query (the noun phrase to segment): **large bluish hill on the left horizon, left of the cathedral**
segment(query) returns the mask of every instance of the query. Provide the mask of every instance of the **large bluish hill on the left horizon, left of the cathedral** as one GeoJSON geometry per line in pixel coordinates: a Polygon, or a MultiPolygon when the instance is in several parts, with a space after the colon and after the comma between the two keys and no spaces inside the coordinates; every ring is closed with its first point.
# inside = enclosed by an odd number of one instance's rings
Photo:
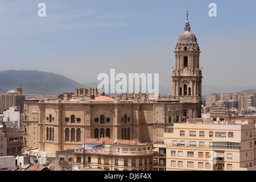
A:
{"type": "Polygon", "coordinates": [[[63,75],[39,71],[0,71],[0,92],[5,93],[16,89],[22,84],[23,93],[57,94],[63,92],[75,92],[75,88],[83,88],[85,85],[73,81],[63,75]]]}

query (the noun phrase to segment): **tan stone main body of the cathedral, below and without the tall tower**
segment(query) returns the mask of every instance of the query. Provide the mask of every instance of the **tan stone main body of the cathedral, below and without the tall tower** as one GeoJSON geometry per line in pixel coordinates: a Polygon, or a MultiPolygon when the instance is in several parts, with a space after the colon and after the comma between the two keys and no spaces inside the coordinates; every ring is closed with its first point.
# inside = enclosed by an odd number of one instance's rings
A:
{"type": "MultiPolygon", "coordinates": [[[[200,106],[168,101],[40,100],[24,103],[24,147],[55,153],[87,138],[161,142],[164,128],[200,115],[200,106]]],[[[109,99],[109,98],[108,98],[109,99]]]]}

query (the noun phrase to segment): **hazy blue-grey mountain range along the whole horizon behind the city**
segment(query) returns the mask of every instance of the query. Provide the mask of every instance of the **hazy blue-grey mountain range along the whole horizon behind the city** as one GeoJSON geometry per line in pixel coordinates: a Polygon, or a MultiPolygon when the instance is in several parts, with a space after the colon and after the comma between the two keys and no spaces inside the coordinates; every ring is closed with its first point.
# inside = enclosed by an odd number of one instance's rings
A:
{"type": "MultiPolygon", "coordinates": [[[[56,95],[63,92],[75,92],[76,88],[94,88],[97,82],[89,82],[88,84],[80,84],[63,75],[57,75],[51,72],[27,71],[27,70],[9,70],[0,71],[0,93],[8,92],[16,89],[22,84],[23,93],[25,95],[56,95]]],[[[203,85],[203,96],[210,93],[256,93],[256,86],[240,87],[233,86],[224,88],[217,85],[203,85]],[[242,91],[241,91],[242,90],[242,91]]],[[[171,93],[171,84],[169,88],[159,85],[159,93],[167,95],[171,93]]]]}

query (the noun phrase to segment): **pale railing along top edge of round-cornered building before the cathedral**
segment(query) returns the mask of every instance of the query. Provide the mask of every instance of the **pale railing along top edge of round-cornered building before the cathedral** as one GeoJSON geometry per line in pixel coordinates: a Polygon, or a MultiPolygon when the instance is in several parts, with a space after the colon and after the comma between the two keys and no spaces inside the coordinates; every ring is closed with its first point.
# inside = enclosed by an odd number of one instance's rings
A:
{"type": "Polygon", "coordinates": [[[105,154],[105,155],[152,155],[153,150],[145,151],[109,151],[109,150],[93,150],[84,148],[75,148],[76,153],[93,153],[93,154],[105,154]]]}

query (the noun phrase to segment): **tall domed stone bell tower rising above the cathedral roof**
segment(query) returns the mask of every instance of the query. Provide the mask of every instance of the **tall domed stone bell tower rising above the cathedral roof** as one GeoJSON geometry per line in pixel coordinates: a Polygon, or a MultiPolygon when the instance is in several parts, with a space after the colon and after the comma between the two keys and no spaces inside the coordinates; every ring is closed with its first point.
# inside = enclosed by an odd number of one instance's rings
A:
{"type": "Polygon", "coordinates": [[[200,48],[188,21],[175,48],[175,68],[172,71],[172,95],[180,102],[201,103],[202,72],[199,67],[200,48]]]}

